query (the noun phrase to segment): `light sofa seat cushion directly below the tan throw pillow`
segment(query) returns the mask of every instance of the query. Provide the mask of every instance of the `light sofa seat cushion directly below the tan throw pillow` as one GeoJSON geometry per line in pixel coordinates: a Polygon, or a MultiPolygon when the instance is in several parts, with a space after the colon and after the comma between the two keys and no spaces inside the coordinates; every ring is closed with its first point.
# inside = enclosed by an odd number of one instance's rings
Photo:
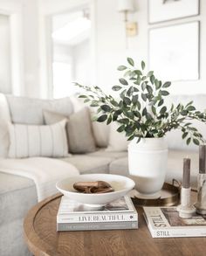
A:
{"type": "Polygon", "coordinates": [[[86,173],[108,173],[109,164],[113,161],[112,157],[90,156],[90,155],[72,155],[62,158],[67,163],[72,163],[80,172],[86,173]]]}

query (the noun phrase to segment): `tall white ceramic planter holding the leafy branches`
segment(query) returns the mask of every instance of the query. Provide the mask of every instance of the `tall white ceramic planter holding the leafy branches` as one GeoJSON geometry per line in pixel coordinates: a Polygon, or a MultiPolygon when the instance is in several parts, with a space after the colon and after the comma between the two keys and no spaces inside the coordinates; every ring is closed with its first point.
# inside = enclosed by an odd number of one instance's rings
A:
{"type": "Polygon", "coordinates": [[[136,184],[140,197],[160,196],[167,163],[168,145],[164,138],[142,138],[139,143],[134,139],[128,145],[129,174],[136,184]]]}

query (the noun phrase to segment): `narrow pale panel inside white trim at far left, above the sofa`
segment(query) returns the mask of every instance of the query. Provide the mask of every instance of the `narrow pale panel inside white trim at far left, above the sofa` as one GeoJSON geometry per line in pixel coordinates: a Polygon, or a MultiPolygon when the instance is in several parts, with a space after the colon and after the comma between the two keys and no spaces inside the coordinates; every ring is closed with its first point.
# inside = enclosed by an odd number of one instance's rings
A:
{"type": "Polygon", "coordinates": [[[0,15],[0,93],[11,93],[10,19],[0,15]]]}

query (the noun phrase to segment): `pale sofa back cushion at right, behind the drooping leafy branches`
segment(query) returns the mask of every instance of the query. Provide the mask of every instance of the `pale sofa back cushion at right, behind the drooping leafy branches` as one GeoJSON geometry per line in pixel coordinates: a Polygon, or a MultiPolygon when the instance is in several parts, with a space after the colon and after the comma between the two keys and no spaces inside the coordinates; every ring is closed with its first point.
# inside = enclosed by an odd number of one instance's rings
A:
{"type": "MultiPolygon", "coordinates": [[[[168,97],[167,103],[168,106],[173,102],[175,105],[182,103],[186,105],[189,101],[193,100],[193,105],[196,107],[196,110],[205,111],[206,109],[206,94],[196,94],[196,95],[171,95],[168,97]]],[[[189,121],[193,124],[195,128],[203,135],[203,138],[206,140],[206,124],[200,121],[189,121]]],[[[186,144],[186,140],[182,140],[182,131],[179,129],[170,131],[166,135],[168,141],[169,149],[185,149],[185,150],[198,150],[198,146],[190,142],[189,145],[186,144]]]]}

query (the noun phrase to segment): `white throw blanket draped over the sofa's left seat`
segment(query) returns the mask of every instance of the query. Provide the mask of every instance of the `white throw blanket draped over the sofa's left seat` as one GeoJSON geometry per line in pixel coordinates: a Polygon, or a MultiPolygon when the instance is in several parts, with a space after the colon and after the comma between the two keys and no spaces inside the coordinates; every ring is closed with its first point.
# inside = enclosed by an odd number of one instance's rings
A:
{"type": "Polygon", "coordinates": [[[0,159],[0,171],[31,178],[37,187],[38,202],[58,192],[59,180],[79,175],[71,163],[46,157],[0,159]]]}

